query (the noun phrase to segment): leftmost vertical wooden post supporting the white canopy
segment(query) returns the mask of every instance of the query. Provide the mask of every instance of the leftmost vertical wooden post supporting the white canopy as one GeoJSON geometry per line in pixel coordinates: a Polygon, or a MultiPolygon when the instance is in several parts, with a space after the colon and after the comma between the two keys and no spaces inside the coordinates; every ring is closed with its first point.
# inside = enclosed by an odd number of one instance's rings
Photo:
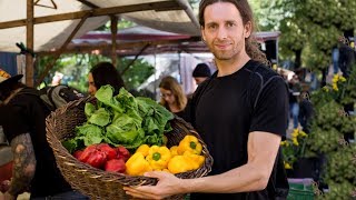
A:
{"type": "MultiPolygon", "coordinates": [[[[33,50],[33,0],[27,0],[26,46],[33,50]]],[[[26,53],[26,84],[33,87],[33,57],[26,53]]]]}

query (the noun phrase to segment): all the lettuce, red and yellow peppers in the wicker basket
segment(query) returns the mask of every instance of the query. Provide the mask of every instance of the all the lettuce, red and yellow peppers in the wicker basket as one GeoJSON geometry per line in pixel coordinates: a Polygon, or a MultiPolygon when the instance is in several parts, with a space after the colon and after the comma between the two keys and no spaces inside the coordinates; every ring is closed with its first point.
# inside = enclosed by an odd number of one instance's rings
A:
{"type": "Polygon", "coordinates": [[[101,87],[97,102],[87,102],[87,121],[76,136],[62,142],[79,161],[109,172],[142,176],[147,171],[181,173],[201,167],[201,143],[186,136],[179,146],[166,147],[174,114],[148,98],[135,98],[123,88],[112,97],[110,86],[101,87]],[[131,152],[135,152],[132,156],[131,152]]]}

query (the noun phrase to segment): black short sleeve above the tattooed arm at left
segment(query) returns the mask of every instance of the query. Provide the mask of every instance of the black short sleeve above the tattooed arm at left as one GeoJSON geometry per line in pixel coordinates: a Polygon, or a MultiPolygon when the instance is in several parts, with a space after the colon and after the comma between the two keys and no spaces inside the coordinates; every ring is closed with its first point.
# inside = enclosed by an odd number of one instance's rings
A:
{"type": "Polygon", "coordinates": [[[28,120],[26,119],[24,109],[17,106],[8,106],[3,109],[7,116],[3,118],[3,133],[6,134],[8,141],[10,142],[13,138],[19,134],[27,133],[30,130],[28,126],[28,120]]]}

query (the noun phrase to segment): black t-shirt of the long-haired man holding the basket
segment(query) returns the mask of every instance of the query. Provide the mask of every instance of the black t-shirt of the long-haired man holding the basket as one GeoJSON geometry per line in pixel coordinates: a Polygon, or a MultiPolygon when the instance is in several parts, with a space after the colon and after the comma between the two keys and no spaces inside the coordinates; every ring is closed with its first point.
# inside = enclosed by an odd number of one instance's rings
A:
{"type": "MultiPolygon", "coordinates": [[[[266,131],[285,137],[288,113],[287,86],[279,74],[256,61],[248,61],[240,70],[229,76],[217,77],[216,72],[199,86],[191,106],[192,124],[214,158],[210,176],[247,163],[249,132],[266,131]]],[[[277,164],[269,186],[263,191],[231,194],[194,193],[191,199],[273,199],[276,168],[277,164]]]]}

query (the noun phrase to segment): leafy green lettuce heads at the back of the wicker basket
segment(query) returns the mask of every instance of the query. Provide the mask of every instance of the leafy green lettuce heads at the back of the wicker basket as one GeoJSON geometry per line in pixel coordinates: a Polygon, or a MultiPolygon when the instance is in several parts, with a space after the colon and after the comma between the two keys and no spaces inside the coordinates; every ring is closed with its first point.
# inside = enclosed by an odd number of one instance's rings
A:
{"type": "Polygon", "coordinates": [[[96,93],[97,103],[86,103],[88,121],[76,128],[75,138],[62,142],[68,151],[101,142],[131,150],[142,143],[162,144],[174,114],[149,98],[135,98],[123,88],[119,94],[112,94],[113,88],[103,86],[96,93]]]}

